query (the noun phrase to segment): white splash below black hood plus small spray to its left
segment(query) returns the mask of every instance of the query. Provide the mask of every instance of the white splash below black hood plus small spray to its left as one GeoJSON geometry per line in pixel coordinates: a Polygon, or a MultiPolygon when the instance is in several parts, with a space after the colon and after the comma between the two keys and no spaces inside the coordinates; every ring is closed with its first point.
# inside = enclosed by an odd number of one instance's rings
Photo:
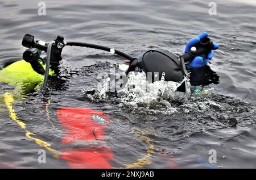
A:
{"type": "MultiPolygon", "coordinates": [[[[181,82],[165,81],[165,73],[162,74],[160,81],[153,83],[147,81],[145,72],[130,72],[127,76],[127,83],[117,91],[117,102],[119,106],[154,108],[162,105],[168,109],[174,109],[171,101],[176,98],[184,98],[184,93],[177,92],[177,88],[184,81],[188,81],[185,77],[181,82]]],[[[110,98],[109,93],[110,78],[104,79],[101,90],[84,90],[86,98],[91,101],[101,101],[110,98]]],[[[113,97],[113,94],[112,94],[113,97]]]]}

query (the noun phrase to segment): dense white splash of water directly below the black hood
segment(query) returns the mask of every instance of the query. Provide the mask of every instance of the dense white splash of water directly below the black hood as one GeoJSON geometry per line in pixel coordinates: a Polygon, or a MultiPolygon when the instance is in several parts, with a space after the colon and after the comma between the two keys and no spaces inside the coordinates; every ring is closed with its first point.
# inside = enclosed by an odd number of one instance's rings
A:
{"type": "Polygon", "coordinates": [[[150,83],[147,81],[146,73],[130,72],[122,95],[122,103],[134,103],[138,106],[147,107],[162,103],[171,107],[167,101],[175,98],[177,88],[187,78],[184,78],[182,82],[172,82],[164,81],[164,76],[165,73],[162,74],[160,81],[150,83]]]}

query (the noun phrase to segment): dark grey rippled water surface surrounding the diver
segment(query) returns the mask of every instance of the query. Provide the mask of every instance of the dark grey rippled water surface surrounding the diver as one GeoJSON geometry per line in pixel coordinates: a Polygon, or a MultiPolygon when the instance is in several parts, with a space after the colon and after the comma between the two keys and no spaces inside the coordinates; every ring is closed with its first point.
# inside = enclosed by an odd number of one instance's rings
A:
{"type": "MultiPolygon", "coordinates": [[[[216,16],[208,14],[210,1],[45,2],[46,16],[39,16],[37,1],[0,1],[0,66],[22,59],[24,34],[45,41],[65,35],[69,41],[106,45],[137,56],[152,48],[179,55],[189,39],[207,31],[220,45],[210,65],[220,83],[210,85],[210,95],[173,102],[174,114],[164,109],[133,110],[113,100],[91,102],[82,94],[84,87],[94,87],[97,74],[109,72],[106,61],[123,59],[95,49],[66,47],[63,81],[53,82],[44,98],[35,91],[14,104],[34,137],[60,151],[84,147],[61,144],[65,130],[56,110],[89,107],[110,118],[105,144],[114,154],[113,167],[146,157],[143,168],[256,168],[255,1],[215,1],[216,16]],[[216,164],[208,162],[210,149],[217,152],[216,164]],[[154,153],[148,155],[147,150],[154,153]]],[[[8,88],[1,84],[1,94],[8,88]]],[[[47,163],[39,164],[39,149],[43,148],[10,119],[1,97],[0,168],[69,168],[48,150],[47,163]]]]}

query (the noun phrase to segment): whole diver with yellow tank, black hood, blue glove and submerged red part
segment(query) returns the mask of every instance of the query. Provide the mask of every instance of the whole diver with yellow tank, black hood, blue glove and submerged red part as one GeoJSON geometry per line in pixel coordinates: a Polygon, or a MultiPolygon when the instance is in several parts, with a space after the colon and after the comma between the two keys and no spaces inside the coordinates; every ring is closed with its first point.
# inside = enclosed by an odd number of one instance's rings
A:
{"type": "MultiPolygon", "coordinates": [[[[218,48],[218,44],[210,41],[207,32],[190,40],[185,47],[184,54],[180,57],[163,50],[149,50],[138,58],[134,58],[115,49],[113,51],[113,48],[87,43],[65,42],[61,36],[50,43],[45,43],[44,41],[34,41],[32,35],[25,35],[22,44],[28,48],[23,53],[24,60],[13,62],[0,71],[0,82],[16,85],[18,88],[16,92],[24,91],[24,89],[35,89],[36,85],[42,81],[44,81],[43,89],[45,89],[48,76],[61,73],[58,67],[62,59],[61,52],[65,45],[77,45],[114,52],[129,60],[126,74],[144,71],[146,74],[152,74],[147,79],[152,79],[153,82],[158,81],[159,76],[163,73],[165,74],[165,81],[181,82],[189,76],[187,71],[193,73],[197,72],[198,69],[207,69],[205,67],[208,67],[207,64],[214,55],[214,49],[218,48]],[[42,51],[47,52],[47,57],[44,59],[40,58],[42,51]]],[[[199,79],[202,79],[204,73],[199,74],[199,79]]],[[[191,79],[195,80],[193,80],[195,84],[200,84],[199,79],[191,79]]],[[[179,91],[190,92],[188,83],[187,81],[184,82],[179,91]]],[[[10,104],[14,102],[11,94],[6,93],[5,97],[8,100],[6,102],[10,102],[10,104]]],[[[14,113],[13,108],[10,110],[14,113]]],[[[13,118],[15,117],[13,116],[13,118]]],[[[107,115],[90,108],[59,107],[57,108],[57,117],[62,127],[67,131],[61,140],[62,144],[73,144],[80,141],[88,144],[88,146],[79,149],[62,149],[59,158],[66,160],[72,168],[112,168],[109,160],[114,157],[114,154],[104,144],[104,133],[109,123],[107,115]]]]}

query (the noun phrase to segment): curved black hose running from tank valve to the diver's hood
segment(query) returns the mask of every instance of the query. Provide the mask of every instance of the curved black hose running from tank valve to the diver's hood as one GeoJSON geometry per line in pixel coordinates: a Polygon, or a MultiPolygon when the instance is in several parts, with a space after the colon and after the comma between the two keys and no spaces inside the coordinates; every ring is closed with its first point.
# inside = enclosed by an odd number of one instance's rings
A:
{"type": "MultiPolygon", "coordinates": [[[[102,46],[102,45],[96,45],[96,44],[88,44],[88,43],[78,43],[78,42],[67,42],[65,45],[75,45],[75,46],[80,46],[80,47],[86,47],[86,48],[93,48],[93,49],[100,49],[103,51],[108,51],[110,52],[111,48],[102,46]]],[[[122,56],[124,58],[127,58],[128,60],[134,60],[134,57],[131,57],[130,55],[127,55],[126,53],[123,53],[121,51],[115,50],[115,54],[122,56]]]]}

